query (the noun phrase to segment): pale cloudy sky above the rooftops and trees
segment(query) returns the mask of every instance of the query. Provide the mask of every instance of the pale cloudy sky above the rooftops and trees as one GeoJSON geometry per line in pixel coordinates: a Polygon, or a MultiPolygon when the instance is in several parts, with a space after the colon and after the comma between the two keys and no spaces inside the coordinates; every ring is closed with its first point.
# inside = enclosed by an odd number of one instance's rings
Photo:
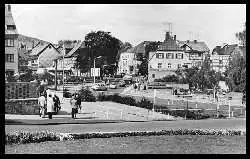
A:
{"type": "Polygon", "coordinates": [[[205,41],[212,50],[238,43],[235,33],[246,21],[246,5],[181,4],[12,4],[12,14],[23,35],[52,43],[82,40],[90,31],[110,31],[133,46],[163,41],[172,23],[177,40],[205,41]]]}

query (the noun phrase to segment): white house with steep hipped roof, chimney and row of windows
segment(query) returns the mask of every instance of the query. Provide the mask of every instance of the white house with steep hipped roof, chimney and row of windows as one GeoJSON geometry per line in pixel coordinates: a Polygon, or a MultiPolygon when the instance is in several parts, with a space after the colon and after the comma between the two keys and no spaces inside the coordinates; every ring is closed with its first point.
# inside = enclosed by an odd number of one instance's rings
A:
{"type": "Polygon", "coordinates": [[[166,33],[164,42],[158,46],[157,51],[149,52],[148,80],[162,78],[175,74],[175,70],[191,65],[189,55],[177,45],[176,35],[172,37],[166,33]]]}

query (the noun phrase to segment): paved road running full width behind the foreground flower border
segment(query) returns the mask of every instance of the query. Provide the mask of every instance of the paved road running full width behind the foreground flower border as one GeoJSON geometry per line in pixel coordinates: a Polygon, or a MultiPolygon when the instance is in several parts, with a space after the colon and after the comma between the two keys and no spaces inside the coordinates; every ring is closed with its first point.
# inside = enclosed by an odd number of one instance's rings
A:
{"type": "Polygon", "coordinates": [[[95,124],[61,124],[61,125],[5,125],[5,132],[16,131],[52,131],[61,133],[91,132],[128,132],[128,131],[161,131],[167,129],[232,129],[246,130],[245,119],[208,119],[148,121],[95,124]]]}

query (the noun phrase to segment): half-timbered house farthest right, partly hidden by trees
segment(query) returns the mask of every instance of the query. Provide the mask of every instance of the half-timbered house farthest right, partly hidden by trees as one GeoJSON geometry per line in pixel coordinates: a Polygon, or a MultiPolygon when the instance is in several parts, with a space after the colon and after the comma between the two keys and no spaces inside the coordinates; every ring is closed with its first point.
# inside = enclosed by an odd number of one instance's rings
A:
{"type": "Polygon", "coordinates": [[[226,44],[222,47],[216,46],[210,55],[212,69],[216,72],[224,73],[229,64],[229,60],[236,54],[245,57],[246,49],[237,44],[226,44]]]}

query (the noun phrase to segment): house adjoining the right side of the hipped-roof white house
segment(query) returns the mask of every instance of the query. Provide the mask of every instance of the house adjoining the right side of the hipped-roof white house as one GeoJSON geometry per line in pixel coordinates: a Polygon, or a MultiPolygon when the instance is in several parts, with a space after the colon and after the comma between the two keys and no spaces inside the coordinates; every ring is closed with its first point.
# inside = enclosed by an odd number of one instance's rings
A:
{"type": "Polygon", "coordinates": [[[184,52],[188,54],[188,58],[191,62],[191,66],[200,67],[209,54],[210,50],[205,42],[202,41],[179,41],[179,46],[184,49],[184,52]]]}

